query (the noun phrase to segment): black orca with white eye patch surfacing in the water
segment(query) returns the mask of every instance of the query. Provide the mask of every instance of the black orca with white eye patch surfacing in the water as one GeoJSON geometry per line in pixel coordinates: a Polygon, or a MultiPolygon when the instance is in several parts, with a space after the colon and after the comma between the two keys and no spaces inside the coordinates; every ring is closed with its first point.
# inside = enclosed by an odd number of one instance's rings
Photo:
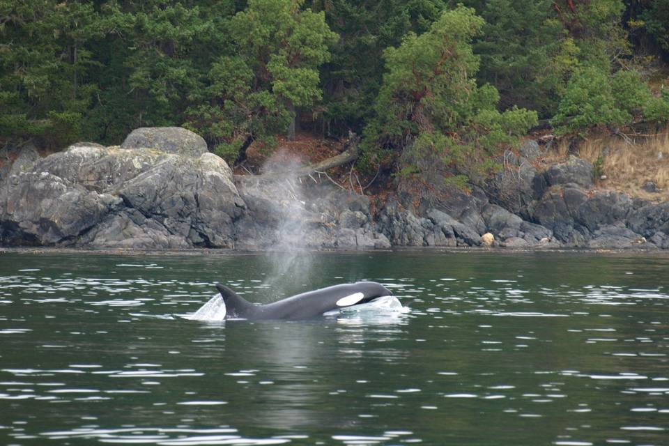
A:
{"type": "Polygon", "coordinates": [[[356,282],[300,293],[267,305],[254,305],[223,284],[216,288],[225,302],[225,318],[242,319],[309,319],[326,312],[392,296],[377,282],[356,282]]]}

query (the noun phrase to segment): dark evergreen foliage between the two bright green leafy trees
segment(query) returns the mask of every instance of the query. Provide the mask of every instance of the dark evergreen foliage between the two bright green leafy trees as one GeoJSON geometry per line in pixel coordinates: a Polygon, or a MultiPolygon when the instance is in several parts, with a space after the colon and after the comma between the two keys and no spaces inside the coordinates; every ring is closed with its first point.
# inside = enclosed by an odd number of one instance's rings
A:
{"type": "Polygon", "coordinates": [[[332,134],[361,132],[374,115],[384,72],[383,52],[410,31],[424,33],[447,5],[445,0],[312,0],[340,38],[323,65],[323,120],[332,134]]]}

